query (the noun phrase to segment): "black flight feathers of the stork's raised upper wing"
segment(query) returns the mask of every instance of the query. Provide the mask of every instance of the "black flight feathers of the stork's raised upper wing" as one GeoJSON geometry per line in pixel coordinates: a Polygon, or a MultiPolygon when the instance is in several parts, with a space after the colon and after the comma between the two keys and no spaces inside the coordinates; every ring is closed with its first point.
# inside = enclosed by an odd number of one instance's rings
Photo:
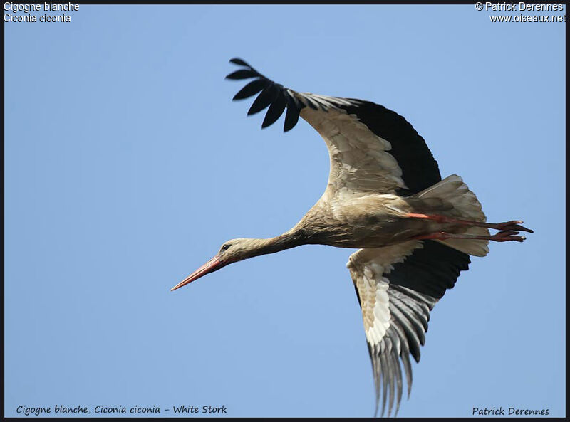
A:
{"type": "MultiPolygon", "coordinates": [[[[325,112],[333,110],[337,116],[346,115],[347,122],[355,126],[358,122],[363,125],[362,137],[369,142],[368,148],[364,148],[365,151],[373,147],[375,143],[378,143],[383,150],[390,151],[390,156],[397,162],[406,186],[405,189],[396,189],[398,194],[413,194],[441,180],[439,167],[430,149],[427,148],[425,140],[398,113],[370,101],[299,93],[279,83],[274,83],[242,59],[232,58],[229,61],[246,68],[230,73],[227,79],[254,78],[234,95],[233,100],[243,100],[259,93],[247,115],[260,112],[269,106],[261,127],[267,127],[276,122],[285,109],[284,132],[291,130],[297,124],[301,110],[306,108],[325,112]],[[373,137],[377,139],[369,139],[373,137]]],[[[318,115],[318,113],[306,110],[306,114],[309,114],[307,122],[315,126],[316,122],[313,120],[316,119],[311,119],[311,115],[318,115]]],[[[356,127],[354,130],[357,132],[356,127]]],[[[378,180],[374,182],[379,183],[378,180]]]]}

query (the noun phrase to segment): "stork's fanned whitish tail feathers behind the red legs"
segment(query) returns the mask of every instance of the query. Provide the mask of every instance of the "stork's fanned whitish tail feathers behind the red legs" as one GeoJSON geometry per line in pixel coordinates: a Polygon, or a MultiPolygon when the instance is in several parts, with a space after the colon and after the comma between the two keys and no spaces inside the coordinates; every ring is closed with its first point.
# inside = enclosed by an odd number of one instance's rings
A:
{"type": "MultiPolygon", "coordinates": [[[[485,214],[481,208],[481,204],[477,201],[477,196],[469,190],[467,185],[463,183],[463,179],[457,174],[447,176],[442,181],[429,188],[419,192],[418,198],[439,198],[449,202],[453,208],[460,213],[459,218],[471,221],[487,221],[485,214]]],[[[489,236],[489,230],[484,227],[470,227],[465,234],[477,236],[489,236]]],[[[487,244],[489,241],[478,239],[446,239],[440,241],[444,245],[460,250],[475,256],[485,256],[489,253],[487,244]]]]}

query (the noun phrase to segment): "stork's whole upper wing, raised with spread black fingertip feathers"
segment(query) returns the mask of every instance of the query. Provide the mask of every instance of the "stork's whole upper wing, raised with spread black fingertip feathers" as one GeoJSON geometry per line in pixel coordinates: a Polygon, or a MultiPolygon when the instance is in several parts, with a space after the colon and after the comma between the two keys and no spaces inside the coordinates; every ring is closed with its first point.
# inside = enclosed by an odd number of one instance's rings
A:
{"type": "Polygon", "coordinates": [[[285,131],[296,125],[300,115],[325,139],[331,158],[326,194],[408,195],[441,180],[423,137],[392,110],[353,98],[298,93],[269,80],[244,60],[229,61],[244,68],[226,78],[254,78],[234,100],[259,93],[248,115],[269,107],[261,127],[274,123],[287,109],[285,131]]]}

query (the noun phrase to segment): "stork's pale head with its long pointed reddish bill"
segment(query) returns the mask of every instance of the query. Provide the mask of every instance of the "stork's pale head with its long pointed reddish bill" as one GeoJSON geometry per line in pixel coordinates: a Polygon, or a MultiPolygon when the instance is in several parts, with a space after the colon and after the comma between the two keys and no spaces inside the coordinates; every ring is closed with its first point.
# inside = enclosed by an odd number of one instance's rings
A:
{"type": "Polygon", "coordinates": [[[228,264],[252,258],[252,256],[261,255],[263,253],[262,250],[265,243],[266,239],[247,238],[232,239],[231,241],[225,242],[222,247],[219,248],[219,252],[214,256],[214,258],[195,270],[194,273],[190,274],[187,278],[175,285],[175,287],[170,289],[170,291],[181,288],[183,285],[187,285],[188,283],[192,283],[192,281],[197,280],[202,277],[202,275],[213,273],[228,264]]]}

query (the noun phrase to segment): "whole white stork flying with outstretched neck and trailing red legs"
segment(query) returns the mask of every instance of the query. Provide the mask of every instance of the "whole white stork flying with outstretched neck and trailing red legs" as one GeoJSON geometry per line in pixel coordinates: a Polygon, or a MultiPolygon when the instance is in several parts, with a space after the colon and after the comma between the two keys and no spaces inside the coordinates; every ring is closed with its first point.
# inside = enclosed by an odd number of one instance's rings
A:
{"type": "Polygon", "coordinates": [[[360,248],[346,264],[361,305],[372,359],[376,413],[398,414],[403,374],[412,386],[410,354],[420,361],[430,310],[485,256],[489,241],[524,241],[522,221],[487,223],[460,176],[441,179],[425,141],[402,116],[373,102],[298,93],[274,83],[244,60],[227,79],[249,79],[234,100],[259,93],[248,115],[269,107],[261,127],[285,109],[284,131],[303,117],[328,147],[331,169],[321,199],[291,230],[269,239],[238,238],[172,290],[230,263],[305,244],[360,248]],[[498,233],[491,235],[489,228],[498,233]],[[402,366],[400,366],[400,360],[402,366]]]}

